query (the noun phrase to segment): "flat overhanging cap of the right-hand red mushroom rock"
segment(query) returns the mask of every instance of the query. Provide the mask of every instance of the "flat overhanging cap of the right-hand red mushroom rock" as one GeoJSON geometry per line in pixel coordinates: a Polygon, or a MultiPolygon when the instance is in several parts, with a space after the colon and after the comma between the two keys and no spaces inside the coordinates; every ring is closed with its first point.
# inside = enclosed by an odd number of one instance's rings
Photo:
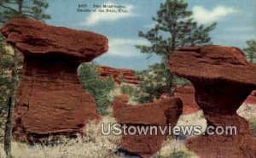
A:
{"type": "Polygon", "coordinates": [[[239,48],[216,45],[178,48],[169,59],[169,69],[188,79],[256,86],[256,65],[248,63],[239,48]]]}

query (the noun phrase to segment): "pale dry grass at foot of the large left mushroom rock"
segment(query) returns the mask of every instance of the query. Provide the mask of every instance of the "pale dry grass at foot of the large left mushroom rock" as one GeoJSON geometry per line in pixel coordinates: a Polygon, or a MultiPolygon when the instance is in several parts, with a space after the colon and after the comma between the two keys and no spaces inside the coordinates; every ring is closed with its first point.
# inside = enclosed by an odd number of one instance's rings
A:
{"type": "MultiPolygon", "coordinates": [[[[113,118],[104,117],[102,122],[114,122],[113,118]]],[[[100,126],[91,122],[86,126],[86,135],[78,138],[61,138],[61,144],[55,146],[29,146],[13,142],[12,154],[15,158],[82,158],[82,157],[121,157],[115,154],[118,149],[119,136],[103,136],[100,126]]],[[[50,138],[49,138],[50,139],[50,138]]],[[[0,147],[3,155],[3,144],[0,147]]]]}

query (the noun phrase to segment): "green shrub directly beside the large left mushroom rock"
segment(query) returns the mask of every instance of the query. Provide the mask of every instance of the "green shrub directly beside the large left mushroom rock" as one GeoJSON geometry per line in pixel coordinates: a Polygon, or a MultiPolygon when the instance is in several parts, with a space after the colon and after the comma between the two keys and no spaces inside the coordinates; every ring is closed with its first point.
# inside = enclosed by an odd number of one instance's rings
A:
{"type": "Polygon", "coordinates": [[[108,115],[108,107],[111,104],[111,92],[114,88],[113,77],[101,79],[96,71],[96,65],[82,64],[79,68],[79,78],[86,92],[96,99],[96,110],[102,115],[108,115]]]}

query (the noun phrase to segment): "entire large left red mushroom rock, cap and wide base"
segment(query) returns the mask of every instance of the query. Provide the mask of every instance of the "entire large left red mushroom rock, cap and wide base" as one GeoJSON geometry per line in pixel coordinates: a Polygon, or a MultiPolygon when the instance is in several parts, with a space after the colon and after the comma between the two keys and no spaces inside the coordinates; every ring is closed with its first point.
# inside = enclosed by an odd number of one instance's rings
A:
{"type": "Polygon", "coordinates": [[[108,39],[36,20],[14,19],[1,28],[7,42],[25,55],[15,107],[15,138],[32,142],[83,133],[98,120],[95,100],[80,85],[77,68],[108,49],[108,39]]]}

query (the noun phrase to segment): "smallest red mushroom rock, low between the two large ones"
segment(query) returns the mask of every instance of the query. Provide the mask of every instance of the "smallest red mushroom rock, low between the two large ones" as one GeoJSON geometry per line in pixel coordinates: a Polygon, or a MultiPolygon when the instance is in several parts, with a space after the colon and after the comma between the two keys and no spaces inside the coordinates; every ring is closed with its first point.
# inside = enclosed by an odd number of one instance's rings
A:
{"type": "MultiPolygon", "coordinates": [[[[121,101],[113,102],[113,116],[121,125],[148,127],[174,127],[178,117],[182,114],[183,104],[180,99],[160,99],[154,103],[130,105],[121,101]]],[[[159,131],[160,132],[160,131],[159,131]]],[[[144,135],[123,135],[120,149],[128,153],[150,157],[160,150],[166,135],[149,133],[144,135]]]]}

